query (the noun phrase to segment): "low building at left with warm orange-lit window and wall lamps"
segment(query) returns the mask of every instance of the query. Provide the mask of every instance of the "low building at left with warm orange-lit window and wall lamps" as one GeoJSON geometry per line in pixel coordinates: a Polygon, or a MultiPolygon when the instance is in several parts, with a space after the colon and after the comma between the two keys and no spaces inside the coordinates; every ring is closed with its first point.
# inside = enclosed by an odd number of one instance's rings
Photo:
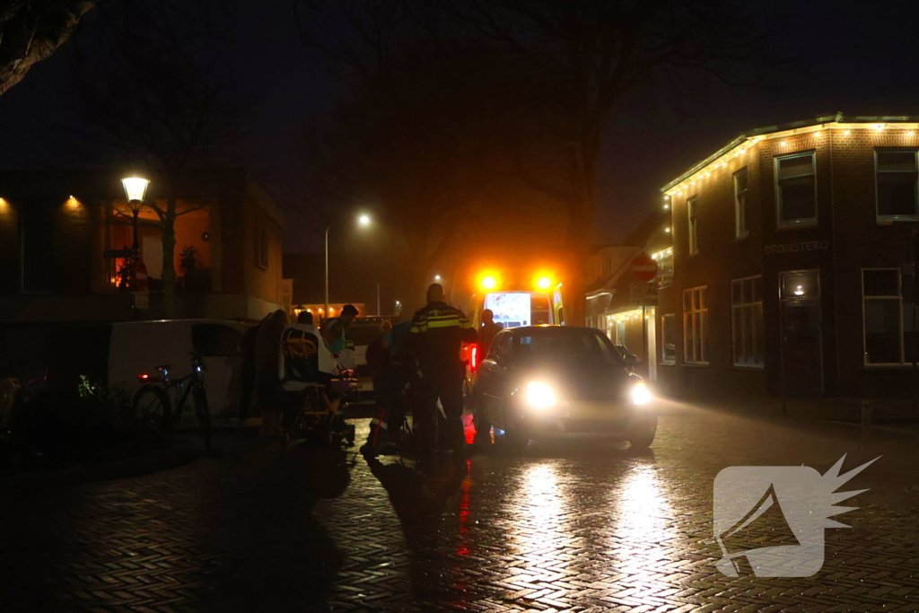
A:
{"type": "MultiPolygon", "coordinates": [[[[165,209],[166,182],[152,174],[146,201],[165,209]]],[[[112,171],[0,172],[0,322],[130,319],[126,259],[133,232],[121,175],[112,171]]],[[[140,211],[139,246],[150,278],[139,318],[258,320],[283,302],[284,215],[242,169],[188,171],[176,179],[177,291],[163,297],[163,230],[140,211]],[[184,252],[184,256],[183,256],[184,252]]]]}

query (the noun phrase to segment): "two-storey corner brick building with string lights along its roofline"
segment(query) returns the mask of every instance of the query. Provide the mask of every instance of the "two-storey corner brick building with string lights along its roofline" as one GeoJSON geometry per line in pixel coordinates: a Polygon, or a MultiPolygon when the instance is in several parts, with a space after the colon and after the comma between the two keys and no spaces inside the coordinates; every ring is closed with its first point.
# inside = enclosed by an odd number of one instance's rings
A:
{"type": "Polygon", "coordinates": [[[660,383],[908,396],[917,131],[919,117],[842,114],[769,126],[667,184],[674,273],[657,317],[674,349],[660,383]]]}

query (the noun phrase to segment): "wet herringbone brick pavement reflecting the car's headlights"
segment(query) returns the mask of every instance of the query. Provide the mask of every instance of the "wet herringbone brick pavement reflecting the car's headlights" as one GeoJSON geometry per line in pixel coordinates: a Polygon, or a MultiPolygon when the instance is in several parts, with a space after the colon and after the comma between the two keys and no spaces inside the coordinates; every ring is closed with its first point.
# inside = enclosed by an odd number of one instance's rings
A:
{"type": "MultiPolygon", "coordinates": [[[[358,437],[366,420],[357,422],[358,437]]],[[[497,446],[426,475],[225,434],[221,459],[5,496],[4,610],[919,610],[912,439],[667,404],[651,451],[497,446]],[[712,486],[732,465],[845,469],[870,488],[806,578],[726,577],[712,486]]],[[[772,520],[747,531],[766,547],[772,520]]]]}

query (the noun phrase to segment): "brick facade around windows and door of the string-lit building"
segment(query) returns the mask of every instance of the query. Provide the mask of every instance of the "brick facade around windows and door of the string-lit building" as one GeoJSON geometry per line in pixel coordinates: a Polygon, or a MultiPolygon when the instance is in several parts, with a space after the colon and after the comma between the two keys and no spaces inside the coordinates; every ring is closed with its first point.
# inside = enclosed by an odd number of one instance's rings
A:
{"type": "Polygon", "coordinates": [[[662,384],[689,393],[778,393],[781,371],[782,272],[817,269],[821,288],[823,393],[869,397],[904,396],[911,369],[866,368],[863,345],[861,268],[900,267],[909,261],[908,241],[915,222],[880,224],[876,219],[875,157],[878,147],[915,147],[919,138],[905,130],[824,130],[766,139],[747,153],[718,166],[695,186],[671,199],[675,255],[674,286],[663,289],[658,315],[676,314],[677,365],[659,369],[662,384]],[[777,224],[775,159],[815,153],[818,223],[781,228],[777,224]],[[735,239],[733,173],[748,172],[749,236],[735,239]],[[698,196],[698,254],[689,255],[686,199],[698,196]],[[766,253],[766,245],[818,245],[766,253]],[[765,369],[733,366],[731,280],[763,276],[765,369]],[[708,286],[709,365],[684,365],[683,289],[708,286]]]}

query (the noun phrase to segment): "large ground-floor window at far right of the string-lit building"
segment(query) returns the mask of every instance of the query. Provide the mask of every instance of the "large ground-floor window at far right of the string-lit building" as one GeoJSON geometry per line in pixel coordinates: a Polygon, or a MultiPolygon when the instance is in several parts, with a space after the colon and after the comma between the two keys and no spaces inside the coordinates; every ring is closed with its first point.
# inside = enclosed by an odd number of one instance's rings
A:
{"type": "Polygon", "coordinates": [[[913,363],[913,305],[902,299],[900,270],[862,270],[865,317],[865,364],[913,363]]]}

